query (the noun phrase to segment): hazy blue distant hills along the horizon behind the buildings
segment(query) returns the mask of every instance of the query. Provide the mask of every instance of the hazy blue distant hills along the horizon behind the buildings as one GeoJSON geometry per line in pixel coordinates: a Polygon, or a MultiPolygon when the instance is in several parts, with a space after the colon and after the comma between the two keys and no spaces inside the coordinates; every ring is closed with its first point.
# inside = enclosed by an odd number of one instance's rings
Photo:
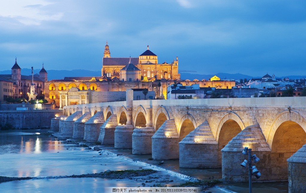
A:
{"type": "MultiPolygon", "coordinates": [[[[41,69],[34,69],[33,72],[34,74],[39,73],[41,69]]],[[[48,72],[48,80],[53,80],[53,79],[63,79],[65,76],[69,77],[69,76],[95,76],[95,77],[99,77],[101,76],[101,71],[91,71],[91,70],[47,70],[48,72]]],[[[0,74],[11,74],[11,70],[3,70],[0,71],[0,74]]],[[[21,74],[22,75],[31,75],[32,74],[32,70],[31,69],[21,69],[21,74]]],[[[190,74],[190,73],[181,73],[181,79],[182,80],[194,80],[194,79],[198,79],[198,80],[209,80],[211,77],[213,76],[218,76],[221,79],[230,79],[233,78],[235,80],[237,79],[252,79],[252,78],[261,78],[261,76],[248,76],[248,75],[244,75],[244,74],[229,74],[229,73],[217,73],[217,74],[190,74]]],[[[276,78],[284,78],[284,77],[289,77],[289,79],[302,79],[302,78],[306,78],[305,76],[282,76],[282,77],[276,77],[276,78]]]]}

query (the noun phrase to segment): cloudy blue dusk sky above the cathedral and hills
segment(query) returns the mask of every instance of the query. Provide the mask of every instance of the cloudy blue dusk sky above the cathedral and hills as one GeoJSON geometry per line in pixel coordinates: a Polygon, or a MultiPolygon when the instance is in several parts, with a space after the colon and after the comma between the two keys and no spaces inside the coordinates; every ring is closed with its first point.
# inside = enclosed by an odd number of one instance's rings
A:
{"type": "MultiPolygon", "coordinates": [[[[10,0],[0,2],[0,71],[101,71],[111,57],[176,57],[197,74],[306,75],[306,1],[10,0]]],[[[84,75],[85,76],[85,75],[84,75]]]]}

